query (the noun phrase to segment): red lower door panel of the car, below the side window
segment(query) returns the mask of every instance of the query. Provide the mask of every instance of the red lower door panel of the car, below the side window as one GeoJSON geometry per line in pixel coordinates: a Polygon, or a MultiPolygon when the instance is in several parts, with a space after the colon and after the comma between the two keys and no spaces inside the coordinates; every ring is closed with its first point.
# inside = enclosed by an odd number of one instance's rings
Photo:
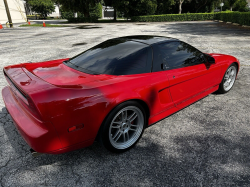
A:
{"type": "Polygon", "coordinates": [[[220,66],[198,64],[167,72],[170,92],[176,107],[183,108],[190,104],[190,99],[202,91],[220,84],[220,66]]]}

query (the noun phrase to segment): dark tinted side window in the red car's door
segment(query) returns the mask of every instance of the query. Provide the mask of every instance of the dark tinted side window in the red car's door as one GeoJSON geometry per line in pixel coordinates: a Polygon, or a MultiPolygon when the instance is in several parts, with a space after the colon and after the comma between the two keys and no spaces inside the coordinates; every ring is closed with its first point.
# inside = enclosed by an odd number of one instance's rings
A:
{"type": "Polygon", "coordinates": [[[153,71],[162,71],[204,63],[204,55],[184,42],[167,42],[154,47],[153,71]]]}

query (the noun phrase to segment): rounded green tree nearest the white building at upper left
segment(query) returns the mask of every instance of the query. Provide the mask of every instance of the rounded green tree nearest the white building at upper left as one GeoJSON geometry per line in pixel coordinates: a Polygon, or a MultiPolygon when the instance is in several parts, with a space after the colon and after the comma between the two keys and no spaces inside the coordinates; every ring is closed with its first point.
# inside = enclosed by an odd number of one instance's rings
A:
{"type": "Polygon", "coordinates": [[[32,11],[41,14],[44,18],[55,11],[54,3],[51,0],[29,0],[28,3],[32,11]]]}

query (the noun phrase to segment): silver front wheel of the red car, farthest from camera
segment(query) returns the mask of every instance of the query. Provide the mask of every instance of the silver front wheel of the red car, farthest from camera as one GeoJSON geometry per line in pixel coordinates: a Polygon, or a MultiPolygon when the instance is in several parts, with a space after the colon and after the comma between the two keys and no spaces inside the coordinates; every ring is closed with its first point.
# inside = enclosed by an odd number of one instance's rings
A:
{"type": "Polygon", "coordinates": [[[218,91],[220,93],[229,92],[235,83],[236,75],[237,75],[237,66],[235,64],[231,64],[220,83],[218,91]]]}

